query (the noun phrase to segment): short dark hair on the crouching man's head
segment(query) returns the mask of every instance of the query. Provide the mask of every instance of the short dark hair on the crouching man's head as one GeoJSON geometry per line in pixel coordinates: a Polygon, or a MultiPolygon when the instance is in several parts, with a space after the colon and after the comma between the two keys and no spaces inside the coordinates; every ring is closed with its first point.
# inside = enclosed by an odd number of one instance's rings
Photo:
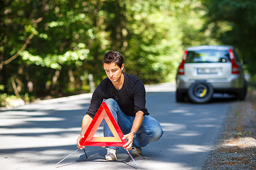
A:
{"type": "Polygon", "coordinates": [[[122,67],[123,57],[119,52],[110,50],[106,53],[102,59],[102,65],[104,63],[115,63],[118,67],[122,67]]]}

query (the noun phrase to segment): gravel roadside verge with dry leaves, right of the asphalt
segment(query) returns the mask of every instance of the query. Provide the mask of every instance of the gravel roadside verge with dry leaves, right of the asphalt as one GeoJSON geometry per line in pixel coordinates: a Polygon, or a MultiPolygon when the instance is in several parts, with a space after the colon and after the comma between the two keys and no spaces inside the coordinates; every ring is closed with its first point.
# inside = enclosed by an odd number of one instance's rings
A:
{"type": "Polygon", "coordinates": [[[256,168],[256,88],[250,86],[245,101],[233,103],[220,139],[203,169],[256,168]]]}

